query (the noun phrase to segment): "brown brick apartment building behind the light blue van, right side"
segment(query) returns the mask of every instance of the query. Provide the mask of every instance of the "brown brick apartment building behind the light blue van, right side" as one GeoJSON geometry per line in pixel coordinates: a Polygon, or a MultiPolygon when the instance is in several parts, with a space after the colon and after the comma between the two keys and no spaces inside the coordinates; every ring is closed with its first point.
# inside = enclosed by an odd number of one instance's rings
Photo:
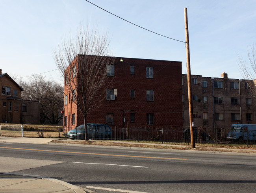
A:
{"type": "MultiPolygon", "coordinates": [[[[191,75],[194,126],[231,128],[232,124],[256,124],[256,101],[246,80],[191,75]]],[[[189,127],[187,75],[182,75],[183,127],[189,127]]]]}

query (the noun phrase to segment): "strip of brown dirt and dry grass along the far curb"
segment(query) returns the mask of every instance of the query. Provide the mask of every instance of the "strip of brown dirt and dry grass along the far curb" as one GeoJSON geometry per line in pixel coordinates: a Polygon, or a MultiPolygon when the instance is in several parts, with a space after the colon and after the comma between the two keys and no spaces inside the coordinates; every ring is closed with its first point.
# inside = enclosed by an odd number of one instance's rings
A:
{"type": "Polygon", "coordinates": [[[85,140],[52,140],[54,143],[70,143],[70,144],[84,144],[93,146],[122,146],[122,147],[144,147],[144,148],[156,148],[156,149],[179,149],[179,150],[199,150],[199,151],[222,151],[222,152],[236,152],[236,153],[256,153],[255,147],[212,147],[196,146],[192,149],[190,146],[183,145],[167,145],[167,144],[148,144],[148,143],[133,143],[133,142],[115,142],[115,141],[85,141],[85,140]]]}

